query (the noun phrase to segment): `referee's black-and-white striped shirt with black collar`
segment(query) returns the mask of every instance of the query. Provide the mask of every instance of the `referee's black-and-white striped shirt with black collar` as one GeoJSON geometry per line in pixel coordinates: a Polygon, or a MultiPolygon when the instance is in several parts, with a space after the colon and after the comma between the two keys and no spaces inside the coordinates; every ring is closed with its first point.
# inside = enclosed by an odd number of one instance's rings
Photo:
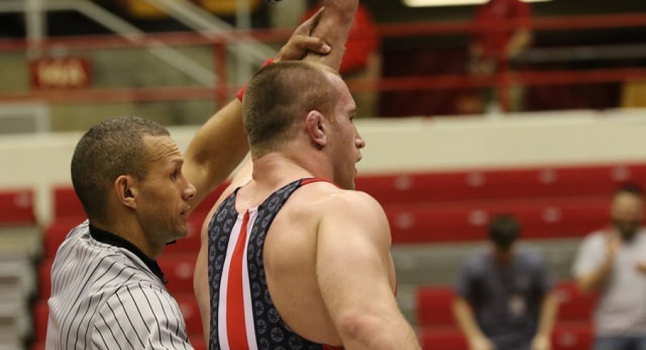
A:
{"type": "Polygon", "coordinates": [[[193,349],[163,280],[133,244],[76,226],[51,268],[46,349],[193,349]]]}

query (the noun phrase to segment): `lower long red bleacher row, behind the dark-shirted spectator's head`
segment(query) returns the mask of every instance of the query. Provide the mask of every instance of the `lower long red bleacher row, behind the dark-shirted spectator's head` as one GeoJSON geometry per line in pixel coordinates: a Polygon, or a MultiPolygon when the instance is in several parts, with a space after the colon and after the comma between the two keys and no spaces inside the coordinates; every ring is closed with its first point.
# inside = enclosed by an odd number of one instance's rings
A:
{"type": "Polygon", "coordinates": [[[580,237],[607,224],[607,197],[459,204],[407,204],[385,208],[396,244],[477,241],[494,214],[515,214],[529,239],[580,237]]]}

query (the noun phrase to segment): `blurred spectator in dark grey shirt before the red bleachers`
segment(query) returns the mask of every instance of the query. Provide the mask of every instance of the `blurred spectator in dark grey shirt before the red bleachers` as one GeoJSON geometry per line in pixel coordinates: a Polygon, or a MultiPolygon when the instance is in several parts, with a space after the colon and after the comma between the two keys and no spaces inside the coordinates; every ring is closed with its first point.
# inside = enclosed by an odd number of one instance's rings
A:
{"type": "Polygon", "coordinates": [[[557,314],[540,254],[520,249],[509,215],[489,224],[490,248],[468,259],[455,286],[454,316],[471,350],[549,350],[557,314]]]}

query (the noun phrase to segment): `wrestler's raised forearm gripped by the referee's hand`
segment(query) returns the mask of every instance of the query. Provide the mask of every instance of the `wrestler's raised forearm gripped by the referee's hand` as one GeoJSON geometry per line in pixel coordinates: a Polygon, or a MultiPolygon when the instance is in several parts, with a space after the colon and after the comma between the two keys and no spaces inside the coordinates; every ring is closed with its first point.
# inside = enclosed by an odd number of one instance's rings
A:
{"type": "Polygon", "coordinates": [[[332,46],[332,51],[325,56],[308,53],[304,61],[314,61],[338,71],[341,66],[345,43],[352,26],[354,14],[357,12],[359,0],[324,0],[324,12],[317,27],[312,31],[317,36],[332,46]]]}

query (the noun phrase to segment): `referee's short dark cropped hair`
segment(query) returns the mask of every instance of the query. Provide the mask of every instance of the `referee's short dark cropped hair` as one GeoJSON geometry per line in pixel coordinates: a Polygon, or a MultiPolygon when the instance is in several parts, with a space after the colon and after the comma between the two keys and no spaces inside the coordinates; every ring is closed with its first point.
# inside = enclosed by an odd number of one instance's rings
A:
{"type": "Polygon", "coordinates": [[[121,175],[144,179],[148,150],[144,136],[169,136],[164,126],[136,116],[120,116],[92,126],[71,159],[71,181],[89,219],[104,220],[106,195],[121,175]]]}

